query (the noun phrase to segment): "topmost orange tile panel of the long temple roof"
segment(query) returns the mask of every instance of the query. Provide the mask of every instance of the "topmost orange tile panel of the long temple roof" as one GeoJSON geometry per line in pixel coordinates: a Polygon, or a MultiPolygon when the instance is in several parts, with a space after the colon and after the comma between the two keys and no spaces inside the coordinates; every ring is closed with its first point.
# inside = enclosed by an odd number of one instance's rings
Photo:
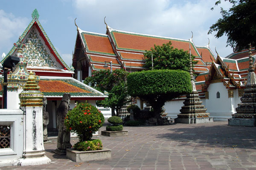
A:
{"type": "MultiPolygon", "coordinates": [[[[189,51],[189,42],[183,40],[175,40],[171,38],[165,37],[153,37],[153,36],[146,36],[146,35],[138,35],[133,33],[124,33],[124,32],[111,32],[113,35],[113,39],[116,42],[117,49],[127,49],[127,50],[150,50],[151,47],[155,45],[162,46],[163,43],[168,43],[169,41],[172,42],[172,46],[177,49],[184,49],[184,51],[189,51]]],[[[191,54],[198,56],[195,49],[191,49],[191,54]]]]}

